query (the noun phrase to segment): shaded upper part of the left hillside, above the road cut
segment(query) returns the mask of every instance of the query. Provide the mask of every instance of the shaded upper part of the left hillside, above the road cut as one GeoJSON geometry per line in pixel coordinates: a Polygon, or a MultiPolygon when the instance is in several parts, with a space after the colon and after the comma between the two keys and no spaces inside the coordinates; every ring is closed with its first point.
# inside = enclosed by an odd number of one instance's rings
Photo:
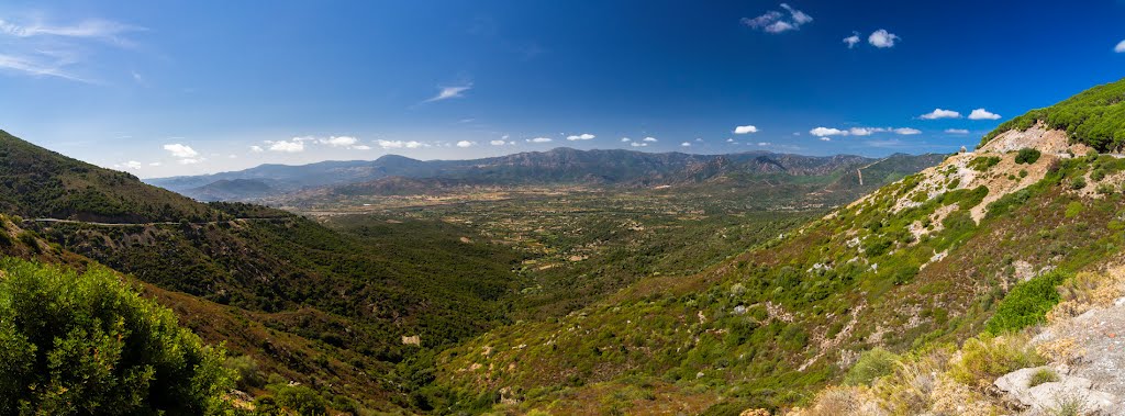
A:
{"type": "Polygon", "coordinates": [[[128,173],[63,156],[3,130],[0,211],[99,221],[207,220],[218,214],[128,173]]]}

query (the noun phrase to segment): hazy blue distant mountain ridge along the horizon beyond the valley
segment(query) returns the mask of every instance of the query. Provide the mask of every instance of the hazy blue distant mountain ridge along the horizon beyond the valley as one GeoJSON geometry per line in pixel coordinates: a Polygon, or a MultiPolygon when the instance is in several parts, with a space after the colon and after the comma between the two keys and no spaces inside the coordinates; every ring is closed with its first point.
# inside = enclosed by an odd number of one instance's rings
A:
{"type": "MultiPolygon", "coordinates": [[[[935,159],[933,155],[904,157],[922,157],[927,161],[935,159]]],[[[375,183],[377,181],[392,181],[397,186],[389,189],[402,191],[405,183],[413,183],[406,188],[418,188],[417,182],[411,181],[416,179],[433,179],[436,181],[423,182],[444,186],[684,184],[775,173],[795,177],[826,175],[876,161],[880,159],[856,155],[804,156],[771,152],[698,155],[559,147],[548,152],[524,152],[464,161],[418,161],[386,155],[375,161],[264,164],[236,172],[148,179],[146,182],[200,200],[245,200],[312,188],[352,184],[364,184],[370,189],[388,188],[375,183]]],[[[938,161],[939,159],[935,159],[925,165],[938,161]]]]}

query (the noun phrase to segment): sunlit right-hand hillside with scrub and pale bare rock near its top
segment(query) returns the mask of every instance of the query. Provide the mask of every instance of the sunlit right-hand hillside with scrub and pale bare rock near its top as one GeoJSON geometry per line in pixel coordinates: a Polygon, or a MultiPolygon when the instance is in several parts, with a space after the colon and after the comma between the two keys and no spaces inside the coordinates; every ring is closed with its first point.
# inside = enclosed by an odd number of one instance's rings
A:
{"type": "Polygon", "coordinates": [[[806,403],[865,351],[980,334],[1017,282],[1119,256],[1125,162],[1045,125],[1008,130],[691,277],[439,359],[446,400],[500,409],[728,414],[806,403]]]}

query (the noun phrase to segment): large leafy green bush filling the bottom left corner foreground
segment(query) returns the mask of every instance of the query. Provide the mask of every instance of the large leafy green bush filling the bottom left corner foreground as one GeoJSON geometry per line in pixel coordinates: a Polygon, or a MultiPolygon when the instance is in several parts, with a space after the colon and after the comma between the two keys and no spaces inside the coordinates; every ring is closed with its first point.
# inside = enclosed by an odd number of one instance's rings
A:
{"type": "Polygon", "coordinates": [[[233,387],[223,352],[108,269],[0,261],[0,414],[202,415],[233,387]]]}

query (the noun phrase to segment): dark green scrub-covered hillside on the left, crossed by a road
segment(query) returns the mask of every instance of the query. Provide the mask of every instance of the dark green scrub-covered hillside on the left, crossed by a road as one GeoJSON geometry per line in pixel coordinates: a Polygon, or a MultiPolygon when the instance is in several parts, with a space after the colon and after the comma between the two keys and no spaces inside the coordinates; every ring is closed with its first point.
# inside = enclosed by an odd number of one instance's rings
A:
{"type": "Polygon", "coordinates": [[[135,277],[263,377],[369,409],[415,408],[399,389],[414,374],[395,367],[506,322],[520,284],[520,255],[460,241],[476,239],[469,229],[411,221],[340,233],[264,207],[196,202],[7,134],[0,157],[0,214],[11,216],[0,247],[135,277]]]}

